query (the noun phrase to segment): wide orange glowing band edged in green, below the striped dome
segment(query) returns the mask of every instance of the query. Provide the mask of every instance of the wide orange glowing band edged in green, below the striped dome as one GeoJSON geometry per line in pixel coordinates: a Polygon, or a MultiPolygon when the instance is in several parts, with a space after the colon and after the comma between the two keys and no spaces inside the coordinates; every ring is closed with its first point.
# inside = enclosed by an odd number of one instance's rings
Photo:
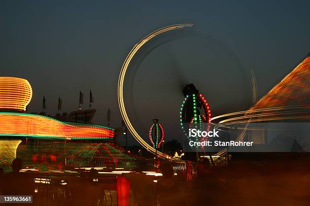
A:
{"type": "Polygon", "coordinates": [[[0,136],[41,138],[112,138],[114,130],[98,125],[75,125],[49,117],[21,113],[0,113],[0,136]]]}

